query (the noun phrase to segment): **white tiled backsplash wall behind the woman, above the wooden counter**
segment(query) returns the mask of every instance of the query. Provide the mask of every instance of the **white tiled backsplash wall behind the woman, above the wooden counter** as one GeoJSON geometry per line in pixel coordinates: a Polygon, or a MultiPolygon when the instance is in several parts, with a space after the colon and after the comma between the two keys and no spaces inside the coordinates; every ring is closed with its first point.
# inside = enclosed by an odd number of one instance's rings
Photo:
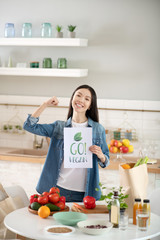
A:
{"type": "MultiPolygon", "coordinates": [[[[22,124],[28,113],[33,113],[36,107],[30,105],[40,105],[46,97],[28,96],[0,96],[0,102],[11,105],[0,105],[0,147],[32,148],[33,134],[14,134],[3,132],[4,124],[22,124]],[[21,103],[22,106],[14,106],[21,103]],[[28,106],[25,106],[27,104],[28,106]],[[23,106],[24,105],[24,106],[23,106]]],[[[47,108],[40,117],[40,123],[52,123],[56,120],[66,121],[69,98],[59,98],[59,106],[65,108],[47,108]]],[[[137,141],[132,141],[135,147],[132,156],[139,156],[139,151],[143,149],[150,158],[160,158],[160,101],[131,101],[131,100],[107,100],[98,99],[100,123],[109,130],[106,135],[107,143],[113,138],[113,131],[117,128],[136,130],[137,141]],[[137,111],[120,111],[105,109],[134,109],[137,111]],[[148,110],[147,112],[145,112],[148,110]],[[155,112],[153,112],[155,111],[155,112]],[[126,119],[126,114],[128,119],[126,119]]],[[[38,139],[41,140],[41,137],[38,139]]],[[[46,141],[44,141],[47,146],[46,141]]]]}

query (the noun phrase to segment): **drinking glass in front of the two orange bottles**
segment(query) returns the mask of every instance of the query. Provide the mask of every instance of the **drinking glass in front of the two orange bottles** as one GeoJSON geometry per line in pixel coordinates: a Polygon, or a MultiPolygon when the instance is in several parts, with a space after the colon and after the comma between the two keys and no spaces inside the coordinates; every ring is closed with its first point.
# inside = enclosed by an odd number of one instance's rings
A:
{"type": "Polygon", "coordinates": [[[144,209],[136,211],[137,228],[140,231],[147,231],[149,222],[149,213],[144,209]]]}

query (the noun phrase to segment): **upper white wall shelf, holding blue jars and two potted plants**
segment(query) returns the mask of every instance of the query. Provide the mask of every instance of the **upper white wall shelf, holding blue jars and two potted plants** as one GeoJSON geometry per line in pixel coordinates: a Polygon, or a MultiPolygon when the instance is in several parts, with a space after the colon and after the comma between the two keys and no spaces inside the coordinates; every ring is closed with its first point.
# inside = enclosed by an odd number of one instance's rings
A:
{"type": "Polygon", "coordinates": [[[87,47],[84,38],[0,38],[0,46],[87,47]]]}

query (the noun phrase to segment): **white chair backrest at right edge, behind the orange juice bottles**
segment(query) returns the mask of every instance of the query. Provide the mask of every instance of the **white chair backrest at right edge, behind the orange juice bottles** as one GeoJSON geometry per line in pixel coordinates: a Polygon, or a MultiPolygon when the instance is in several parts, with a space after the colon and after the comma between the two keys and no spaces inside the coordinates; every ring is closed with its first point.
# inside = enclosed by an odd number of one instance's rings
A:
{"type": "Polygon", "coordinates": [[[160,216],[160,206],[159,206],[160,188],[154,189],[153,192],[149,195],[149,199],[150,199],[151,212],[160,216]]]}

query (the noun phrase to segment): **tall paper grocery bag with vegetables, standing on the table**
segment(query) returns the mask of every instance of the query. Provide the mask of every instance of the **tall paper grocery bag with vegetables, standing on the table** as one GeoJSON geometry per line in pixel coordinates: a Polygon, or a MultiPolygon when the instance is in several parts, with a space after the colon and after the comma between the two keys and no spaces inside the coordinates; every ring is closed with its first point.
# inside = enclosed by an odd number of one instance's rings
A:
{"type": "Polygon", "coordinates": [[[123,169],[122,164],[119,165],[120,186],[126,190],[126,194],[129,194],[125,202],[128,204],[127,212],[129,217],[133,217],[134,199],[141,198],[143,200],[147,196],[148,171],[147,164],[142,164],[134,168],[135,163],[128,164],[132,168],[123,169]]]}

